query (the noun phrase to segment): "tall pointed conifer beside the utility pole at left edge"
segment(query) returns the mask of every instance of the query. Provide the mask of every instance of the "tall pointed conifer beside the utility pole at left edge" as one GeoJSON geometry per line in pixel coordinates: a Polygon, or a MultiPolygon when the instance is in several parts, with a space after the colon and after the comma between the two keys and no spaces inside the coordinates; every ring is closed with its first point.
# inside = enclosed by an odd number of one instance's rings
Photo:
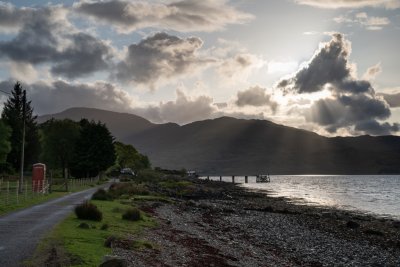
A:
{"type": "Polygon", "coordinates": [[[31,101],[24,97],[22,86],[19,82],[14,85],[11,96],[4,104],[1,117],[3,121],[11,128],[11,151],[7,156],[7,162],[18,170],[21,165],[21,147],[23,118],[25,117],[25,161],[24,165],[35,163],[38,160],[40,143],[36,117],[33,115],[31,101]],[[25,116],[24,116],[25,107],[25,116]]]}

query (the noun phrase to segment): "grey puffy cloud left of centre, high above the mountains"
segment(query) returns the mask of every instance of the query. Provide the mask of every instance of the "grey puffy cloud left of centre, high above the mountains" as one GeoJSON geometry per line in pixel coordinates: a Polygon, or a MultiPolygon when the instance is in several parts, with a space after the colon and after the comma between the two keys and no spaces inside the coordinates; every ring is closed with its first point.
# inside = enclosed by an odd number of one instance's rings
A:
{"type": "Polygon", "coordinates": [[[213,61],[197,54],[202,45],[203,41],[198,37],[179,38],[156,33],[129,46],[125,60],[117,66],[115,77],[154,87],[160,80],[193,73],[213,61]]]}

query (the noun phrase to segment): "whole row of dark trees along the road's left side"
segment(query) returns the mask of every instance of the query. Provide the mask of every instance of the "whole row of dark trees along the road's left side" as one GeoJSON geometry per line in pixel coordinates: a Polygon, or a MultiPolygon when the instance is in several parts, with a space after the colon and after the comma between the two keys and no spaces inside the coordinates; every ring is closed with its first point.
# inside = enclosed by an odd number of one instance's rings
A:
{"type": "Polygon", "coordinates": [[[43,162],[64,178],[94,177],[107,170],[150,168],[147,156],[132,145],[116,142],[107,126],[82,119],[50,119],[37,124],[31,101],[16,83],[0,120],[0,172],[15,173],[21,166],[25,121],[24,168],[43,162]]]}

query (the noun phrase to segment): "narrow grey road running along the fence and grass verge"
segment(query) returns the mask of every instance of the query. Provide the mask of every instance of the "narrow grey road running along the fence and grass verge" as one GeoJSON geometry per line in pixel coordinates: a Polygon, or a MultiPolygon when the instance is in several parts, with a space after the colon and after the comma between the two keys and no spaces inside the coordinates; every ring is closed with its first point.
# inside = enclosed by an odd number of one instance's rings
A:
{"type": "Polygon", "coordinates": [[[95,191],[69,194],[21,211],[0,216],[0,266],[14,267],[32,256],[40,238],[73,207],[88,199],[95,191]]]}

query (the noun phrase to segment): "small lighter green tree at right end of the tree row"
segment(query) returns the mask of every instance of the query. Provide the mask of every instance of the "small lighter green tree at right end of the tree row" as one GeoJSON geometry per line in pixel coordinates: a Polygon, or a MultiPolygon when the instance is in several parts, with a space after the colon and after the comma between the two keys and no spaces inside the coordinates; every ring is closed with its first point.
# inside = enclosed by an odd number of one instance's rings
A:
{"type": "Polygon", "coordinates": [[[120,168],[131,168],[137,172],[151,167],[149,158],[140,154],[132,145],[115,142],[114,146],[117,154],[116,165],[120,168]]]}

